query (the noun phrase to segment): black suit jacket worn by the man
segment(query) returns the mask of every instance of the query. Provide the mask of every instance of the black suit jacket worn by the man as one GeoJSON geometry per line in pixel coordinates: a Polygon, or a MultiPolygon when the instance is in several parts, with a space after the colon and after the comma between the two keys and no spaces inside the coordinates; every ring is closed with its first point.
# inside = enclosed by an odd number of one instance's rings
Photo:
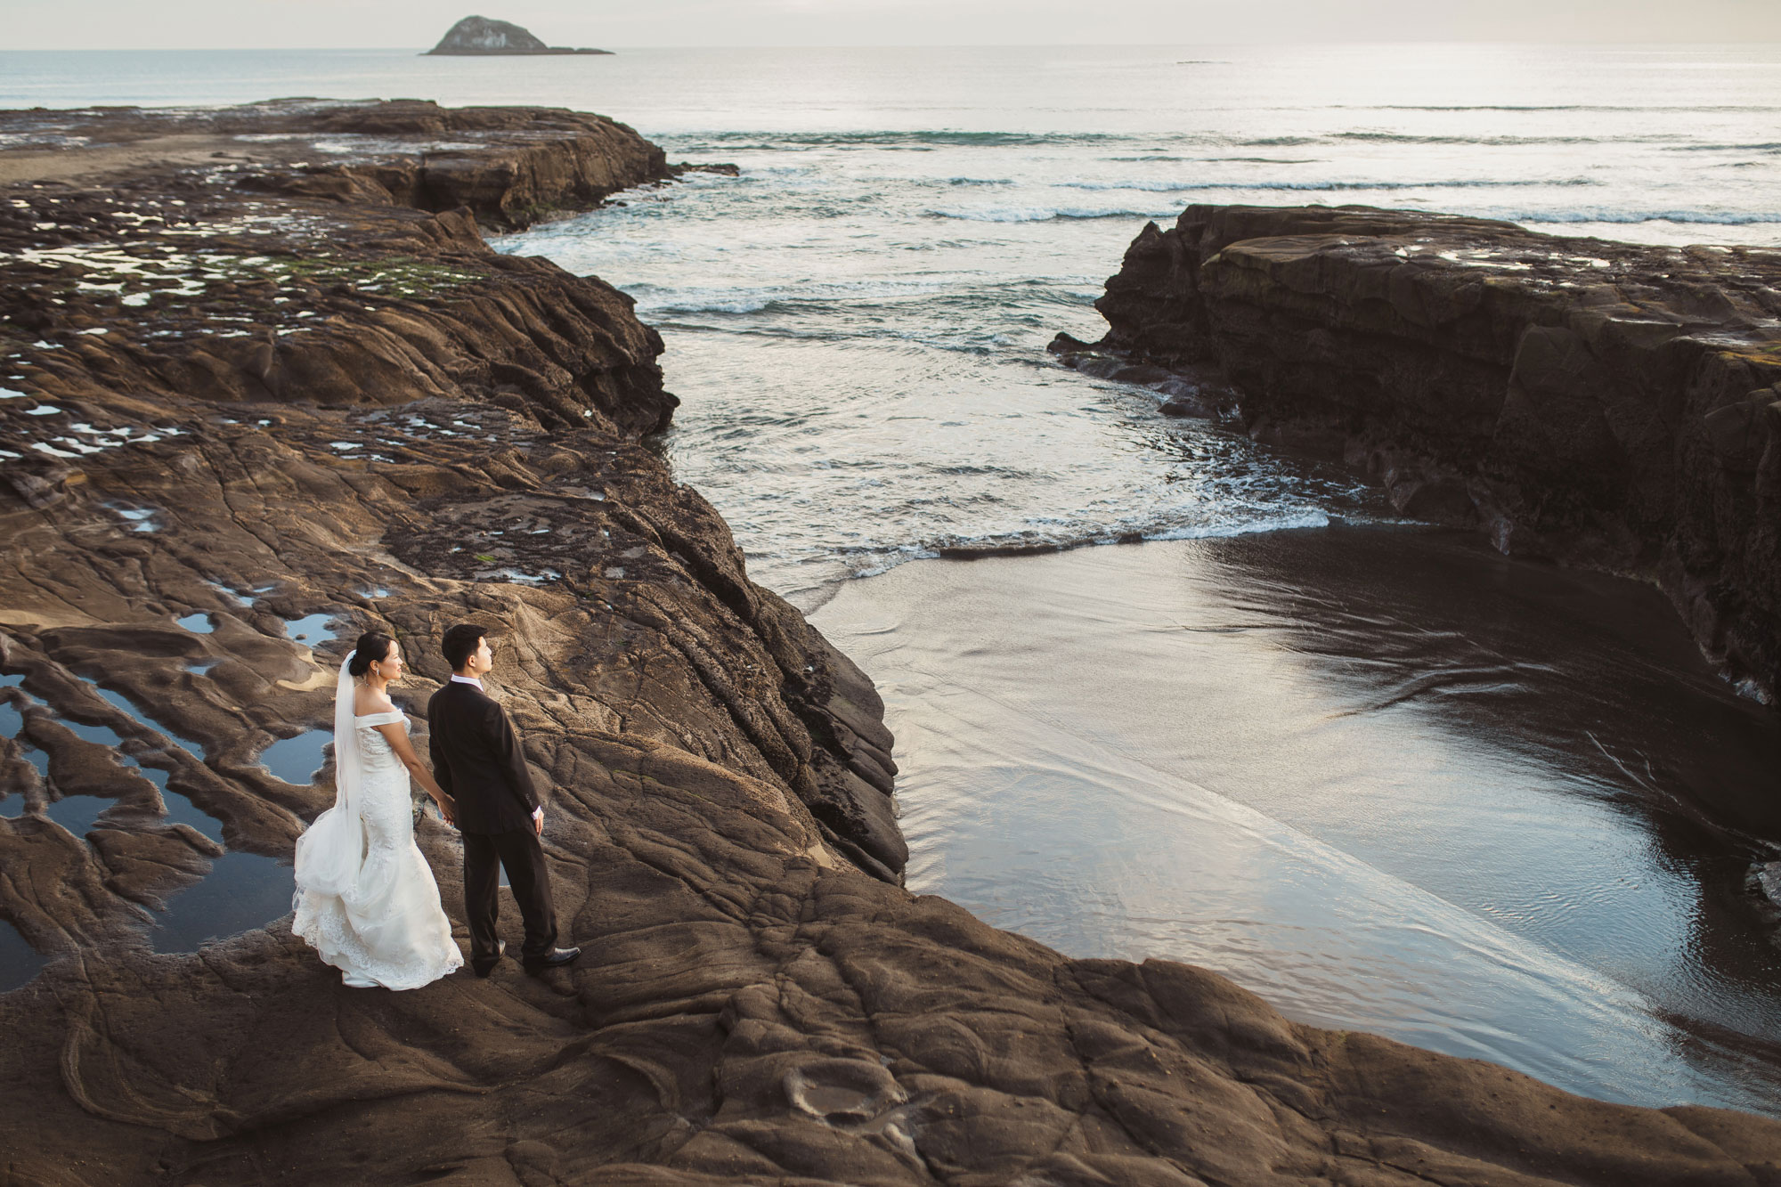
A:
{"type": "Polygon", "coordinates": [[[458,800],[459,832],[533,827],[541,800],[499,704],[476,684],[451,681],[427,702],[427,731],[433,777],[458,800]]]}

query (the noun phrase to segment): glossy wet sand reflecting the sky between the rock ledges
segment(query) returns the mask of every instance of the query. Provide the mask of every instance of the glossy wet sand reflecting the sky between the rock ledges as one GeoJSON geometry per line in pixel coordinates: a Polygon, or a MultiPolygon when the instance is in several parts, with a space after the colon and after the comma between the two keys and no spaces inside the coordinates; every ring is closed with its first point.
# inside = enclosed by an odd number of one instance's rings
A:
{"type": "Polygon", "coordinates": [[[878,681],[910,888],[1644,1105],[1781,1114],[1781,731],[1651,588],[1332,528],[921,561],[878,681]]]}

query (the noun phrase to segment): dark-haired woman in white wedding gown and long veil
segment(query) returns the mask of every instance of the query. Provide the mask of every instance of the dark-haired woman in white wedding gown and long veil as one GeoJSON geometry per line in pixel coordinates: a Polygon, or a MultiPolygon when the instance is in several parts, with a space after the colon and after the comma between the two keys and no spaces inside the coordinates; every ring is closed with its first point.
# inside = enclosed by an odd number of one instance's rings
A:
{"type": "Polygon", "coordinates": [[[413,775],[452,820],[452,798],[408,741],[390,702],[403,652],[383,631],[358,636],[335,692],[335,806],[297,838],[290,930],[354,989],[419,989],[463,964],[440,907],[408,793],[413,775]]]}

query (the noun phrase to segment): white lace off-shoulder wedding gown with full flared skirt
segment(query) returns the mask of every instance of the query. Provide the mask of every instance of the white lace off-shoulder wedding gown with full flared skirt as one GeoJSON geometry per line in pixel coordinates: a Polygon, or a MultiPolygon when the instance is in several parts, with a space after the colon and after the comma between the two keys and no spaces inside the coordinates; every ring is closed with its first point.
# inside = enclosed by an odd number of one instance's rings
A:
{"type": "Polygon", "coordinates": [[[408,729],[401,711],[354,716],[353,754],[340,754],[337,734],[342,795],[297,839],[290,930],[349,986],[419,989],[461,966],[463,954],[415,845],[408,770],[378,731],[395,722],[408,729]]]}

